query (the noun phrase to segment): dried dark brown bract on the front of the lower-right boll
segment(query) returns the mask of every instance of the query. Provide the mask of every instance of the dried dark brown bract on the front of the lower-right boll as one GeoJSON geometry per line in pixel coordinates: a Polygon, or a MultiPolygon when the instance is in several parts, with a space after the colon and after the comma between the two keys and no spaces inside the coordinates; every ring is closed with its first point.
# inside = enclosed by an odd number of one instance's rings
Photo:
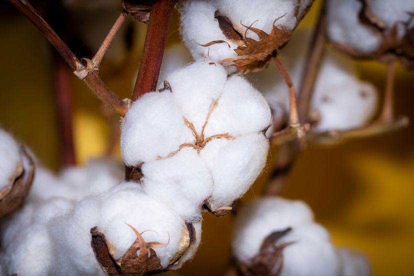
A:
{"type": "Polygon", "coordinates": [[[274,231],[261,243],[259,252],[251,259],[250,265],[236,260],[239,274],[243,276],[263,275],[277,276],[283,267],[283,249],[293,242],[277,245],[277,241],[291,230],[290,227],[274,231]]]}

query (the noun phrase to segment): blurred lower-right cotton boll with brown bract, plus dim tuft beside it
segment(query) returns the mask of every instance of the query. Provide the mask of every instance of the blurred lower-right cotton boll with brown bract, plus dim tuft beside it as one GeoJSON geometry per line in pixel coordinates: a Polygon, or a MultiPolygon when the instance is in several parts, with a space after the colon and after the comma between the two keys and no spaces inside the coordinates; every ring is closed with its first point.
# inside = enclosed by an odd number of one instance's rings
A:
{"type": "Polygon", "coordinates": [[[350,270],[367,275],[369,271],[362,268],[367,265],[364,257],[340,256],[306,204],[280,197],[255,199],[237,213],[232,249],[245,274],[254,274],[254,267],[267,267],[269,273],[280,269],[279,275],[339,276],[350,270]]]}

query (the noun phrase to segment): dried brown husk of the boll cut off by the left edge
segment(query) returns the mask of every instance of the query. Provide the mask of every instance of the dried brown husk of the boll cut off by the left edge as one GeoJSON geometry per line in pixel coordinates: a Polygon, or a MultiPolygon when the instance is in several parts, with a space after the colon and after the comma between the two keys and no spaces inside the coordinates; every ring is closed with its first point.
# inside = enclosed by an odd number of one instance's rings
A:
{"type": "Polygon", "coordinates": [[[0,190],[0,217],[13,212],[27,196],[34,176],[34,161],[23,145],[19,149],[20,160],[0,190]]]}

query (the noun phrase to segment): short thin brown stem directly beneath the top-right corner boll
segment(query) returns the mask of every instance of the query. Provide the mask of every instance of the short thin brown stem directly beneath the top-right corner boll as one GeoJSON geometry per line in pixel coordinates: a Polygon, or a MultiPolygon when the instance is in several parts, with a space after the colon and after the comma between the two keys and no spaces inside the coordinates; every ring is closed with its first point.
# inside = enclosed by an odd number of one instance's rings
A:
{"type": "Polygon", "coordinates": [[[394,77],[395,77],[395,62],[392,61],[387,66],[386,83],[384,101],[382,104],[382,111],[379,117],[380,120],[390,122],[394,119],[394,77]]]}

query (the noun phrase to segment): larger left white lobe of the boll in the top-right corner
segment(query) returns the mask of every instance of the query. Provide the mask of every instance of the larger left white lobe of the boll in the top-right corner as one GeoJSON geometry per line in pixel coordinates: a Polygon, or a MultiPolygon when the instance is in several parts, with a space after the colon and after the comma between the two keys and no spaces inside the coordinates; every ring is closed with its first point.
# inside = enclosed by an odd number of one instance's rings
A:
{"type": "Polygon", "coordinates": [[[379,48],[381,37],[359,21],[362,3],[358,0],[328,0],[327,35],[336,43],[350,45],[363,53],[379,48]]]}

